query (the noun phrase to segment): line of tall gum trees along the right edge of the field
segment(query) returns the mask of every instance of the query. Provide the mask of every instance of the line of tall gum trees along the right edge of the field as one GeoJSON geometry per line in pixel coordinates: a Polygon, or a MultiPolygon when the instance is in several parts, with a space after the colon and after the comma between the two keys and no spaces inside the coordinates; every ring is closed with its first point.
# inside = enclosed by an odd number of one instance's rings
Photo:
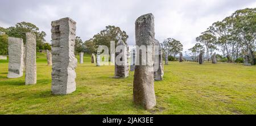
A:
{"type": "Polygon", "coordinates": [[[250,64],[255,65],[255,38],[256,8],[237,10],[224,20],[213,23],[207,31],[196,37],[197,43],[189,51],[194,59],[199,51],[205,51],[208,61],[214,51],[222,52],[227,62],[236,62],[249,56],[250,64]]]}

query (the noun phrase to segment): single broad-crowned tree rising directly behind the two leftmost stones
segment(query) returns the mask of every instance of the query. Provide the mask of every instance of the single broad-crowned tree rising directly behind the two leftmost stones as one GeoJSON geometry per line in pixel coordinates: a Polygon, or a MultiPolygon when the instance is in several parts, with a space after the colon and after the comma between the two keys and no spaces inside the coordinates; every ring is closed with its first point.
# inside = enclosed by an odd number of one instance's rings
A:
{"type": "Polygon", "coordinates": [[[10,37],[19,37],[23,39],[23,43],[26,44],[26,32],[33,32],[36,35],[36,47],[43,49],[43,44],[46,42],[46,32],[39,31],[39,28],[35,24],[28,22],[20,22],[15,27],[9,27],[6,30],[6,34],[10,37]]]}

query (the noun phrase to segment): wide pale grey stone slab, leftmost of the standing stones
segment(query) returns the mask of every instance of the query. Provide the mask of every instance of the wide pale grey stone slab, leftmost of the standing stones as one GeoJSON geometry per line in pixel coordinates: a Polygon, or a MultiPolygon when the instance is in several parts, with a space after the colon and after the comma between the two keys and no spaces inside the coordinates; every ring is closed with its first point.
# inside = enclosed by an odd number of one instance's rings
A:
{"type": "Polygon", "coordinates": [[[9,69],[8,78],[19,78],[23,76],[23,39],[8,37],[9,69]]]}

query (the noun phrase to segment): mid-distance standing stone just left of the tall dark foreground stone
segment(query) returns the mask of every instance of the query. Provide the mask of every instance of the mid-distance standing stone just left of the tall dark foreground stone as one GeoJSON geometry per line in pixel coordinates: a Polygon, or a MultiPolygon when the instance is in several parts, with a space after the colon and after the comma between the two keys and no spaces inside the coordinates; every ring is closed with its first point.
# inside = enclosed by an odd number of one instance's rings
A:
{"type": "Polygon", "coordinates": [[[126,78],[129,76],[129,63],[127,60],[127,45],[119,40],[117,46],[122,46],[121,52],[115,52],[115,78],[126,78]]]}

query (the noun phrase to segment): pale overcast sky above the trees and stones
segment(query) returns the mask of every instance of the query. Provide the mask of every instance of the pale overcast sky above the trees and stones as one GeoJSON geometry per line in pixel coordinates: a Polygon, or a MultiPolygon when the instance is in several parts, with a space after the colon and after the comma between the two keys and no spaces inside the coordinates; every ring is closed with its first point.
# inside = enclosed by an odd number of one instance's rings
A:
{"type": "Polygon", "coordinates": [[[77,36],[83,41],[108,25],[129,35],[127,43],[135,44],[135,20],[147,13],[155,16],[155,38],[168,37],[181,41],[184,50],[191,48],[195,38],[213,22],[222,20],[238,9],[256,7],[255,0],[1,0],[0,27],[30,22],[47,33],[51,41],[51,21],[69,17],[77,22],[77,36]]]}

